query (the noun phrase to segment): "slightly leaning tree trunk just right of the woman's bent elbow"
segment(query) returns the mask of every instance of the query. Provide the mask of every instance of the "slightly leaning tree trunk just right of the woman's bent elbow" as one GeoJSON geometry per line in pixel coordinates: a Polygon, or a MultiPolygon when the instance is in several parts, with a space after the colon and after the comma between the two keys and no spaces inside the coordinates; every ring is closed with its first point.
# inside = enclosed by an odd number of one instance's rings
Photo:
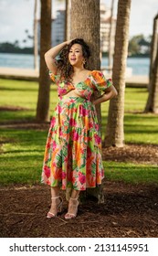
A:
{"type": "Polygon", "coordinates": [[[112,80],[118,91],[118,96],[110,101],[107,131],[104,140],[106,146],[115,145],[121,147],[124,145],[125,69],[128,54],[131,2],[131,0],[119,0],[118,2],[112,69],[112,80]]]}

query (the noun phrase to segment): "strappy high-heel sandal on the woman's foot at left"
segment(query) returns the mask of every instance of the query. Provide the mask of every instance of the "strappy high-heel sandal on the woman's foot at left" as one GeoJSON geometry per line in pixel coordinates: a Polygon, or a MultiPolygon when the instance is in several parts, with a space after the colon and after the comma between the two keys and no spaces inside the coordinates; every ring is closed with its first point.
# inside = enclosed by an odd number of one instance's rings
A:
{"type": "Polygon", "coordinates": [[[62,197],[51,197],[51,211],[47,212],[47,218],[57,217],[58,212],[62,210],[62,203],[62,197]]]}

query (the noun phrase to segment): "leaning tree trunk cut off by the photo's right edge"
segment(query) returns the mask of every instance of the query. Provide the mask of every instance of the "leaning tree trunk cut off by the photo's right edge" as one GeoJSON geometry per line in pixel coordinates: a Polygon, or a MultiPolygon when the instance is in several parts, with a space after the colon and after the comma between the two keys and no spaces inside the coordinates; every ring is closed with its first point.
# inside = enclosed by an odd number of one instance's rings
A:
{"type": "Polygon", "coordinates": [[[158,111],[158,84],[156,83],[156,53],[158,49],[158,14],[153,19],[153,37],[151,44],[151,63],[149,74],[149,94],[144,112],[158,111]]]}

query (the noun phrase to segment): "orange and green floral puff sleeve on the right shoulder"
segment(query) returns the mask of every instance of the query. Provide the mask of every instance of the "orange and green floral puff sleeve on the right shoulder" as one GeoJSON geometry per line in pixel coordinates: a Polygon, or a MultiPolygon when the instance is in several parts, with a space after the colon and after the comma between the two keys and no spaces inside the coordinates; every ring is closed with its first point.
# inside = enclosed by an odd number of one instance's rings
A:
{"type": "Polygon", "coordinates": [[[105,91],[112,85],[112,80],[106,79],[101,71],[93,70],[91,77],[94,89],[97,91],[105,91]]]}

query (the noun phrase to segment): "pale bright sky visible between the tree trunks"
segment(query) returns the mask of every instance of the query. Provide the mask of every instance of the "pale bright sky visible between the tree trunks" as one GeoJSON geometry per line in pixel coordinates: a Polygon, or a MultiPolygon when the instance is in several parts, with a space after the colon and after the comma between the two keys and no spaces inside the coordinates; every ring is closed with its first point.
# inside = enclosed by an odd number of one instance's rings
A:
{"type": "MultiPolygon", "coordinates": [[[[111,7],[111,0],[101,0],[111,7]]],[[[115,14],[117,10],[115,0],[115,14]]],[[[60,7],[53,0],[55,11],[60,7]]],[[[0,42],[22,42],[26,38],[25,30],[32,35],[34,0],[0,0],[0,42]]],[[[158,0],[132,0],[130,37],[138,34],[149,36],[153,33],[153,17],[158,13],[158,0]]]]}

